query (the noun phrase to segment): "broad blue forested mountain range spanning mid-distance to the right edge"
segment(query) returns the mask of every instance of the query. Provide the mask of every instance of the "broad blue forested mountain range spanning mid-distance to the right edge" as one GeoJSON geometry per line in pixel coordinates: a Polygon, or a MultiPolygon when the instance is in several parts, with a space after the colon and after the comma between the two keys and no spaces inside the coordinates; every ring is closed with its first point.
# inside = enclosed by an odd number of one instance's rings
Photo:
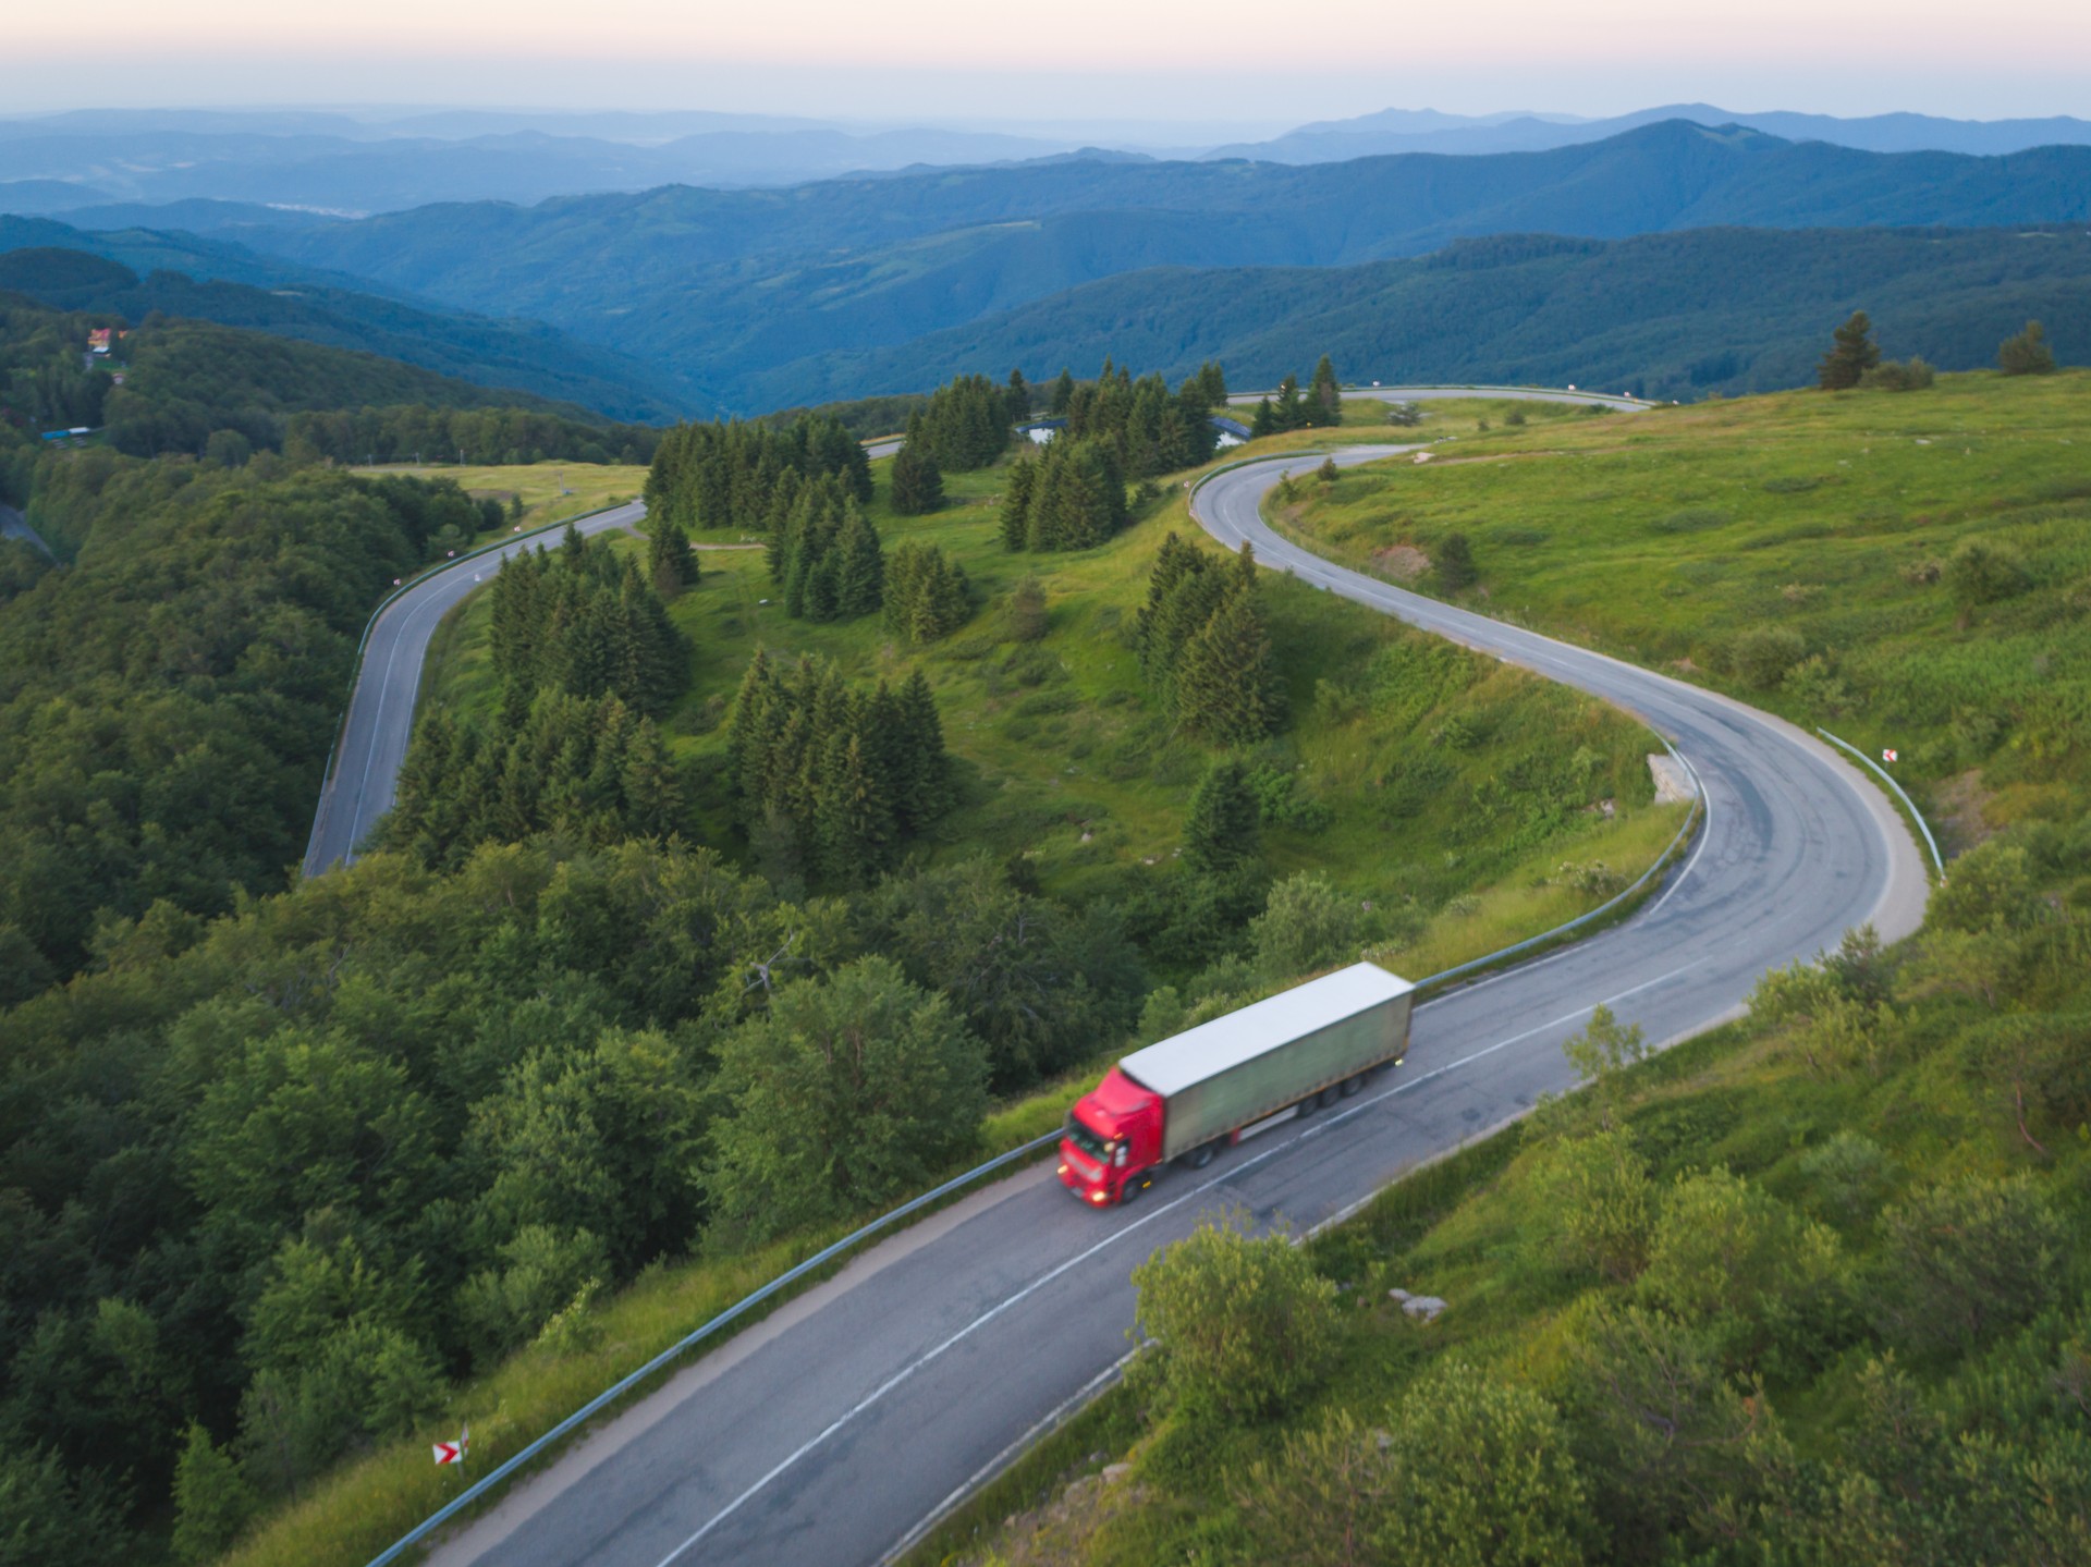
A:
{"type": "MultiPolygon", "coordinates": [[[[2091,215],[2091,149],[1859,153],[1685,121],[1491,157],[1276,163],[1066,161],[828,180],[792,190],[456,203],[349,224],[234,226],[217,241],[460,310],[535,316],[753,414],[780,364],[895,349],[1152,266],[1357,266],[1462,236],[1591,239],[1748,224],[2020,226],[2091,215]]],[[[1115,343],[1071,354],[1094,364],[1115,343]]],[[[836,379],[857,395],[933,385],[836,379]]],[[[976,368],[983,360],[970,362],[976,368]]],[[[1025,358],[1027,370],[1033,362],[1025,358]]],[[[1058,362],[1037,366],[1050,374],[1058,362]]]]}

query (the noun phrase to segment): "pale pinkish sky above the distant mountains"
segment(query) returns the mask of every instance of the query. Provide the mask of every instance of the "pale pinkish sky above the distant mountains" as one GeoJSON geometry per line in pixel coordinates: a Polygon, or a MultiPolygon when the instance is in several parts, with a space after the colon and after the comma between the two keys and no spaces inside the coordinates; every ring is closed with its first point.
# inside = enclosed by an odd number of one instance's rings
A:
{"type": "Polygon", "coordinates": [[[872,119],[2091,117],[2087,0],[10,0],[0,113],[297,103],[872,119]],[[88,21],[92,19],[92,21],[88,21]]]}

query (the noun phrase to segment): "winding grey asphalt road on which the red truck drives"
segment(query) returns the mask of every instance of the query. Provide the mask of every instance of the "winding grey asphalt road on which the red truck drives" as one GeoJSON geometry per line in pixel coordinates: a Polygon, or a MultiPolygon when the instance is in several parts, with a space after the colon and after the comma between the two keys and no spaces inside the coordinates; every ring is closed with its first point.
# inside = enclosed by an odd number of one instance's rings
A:
{"type": "Polygon", "coordinates": [[[1767,967],[1834,946],[1861,921],[1890,939],[1917,925],[1915,843],[1828,747],[1740,703],[1405,594],[1271,536],[1259,498],[1282,469],[1317,462],[1223,473],[1198,492],[1194,515],[1221,542],[1253,540],[1276,569],[1646,718],[1706,791],[1683,866],[1625,925],[1426,1002],[1409,1063],[1368,1092],[1278,1121],[1196,1176],[1169,1174],[1131,1207],[1077,1207],[1048,1163],[887,1241],[569,1448],[433,1561],[882,1561],[1108,1377],[1133,1320],[1127,1272],[1200,1213],[1324,1222],[1566,1088],[1560,1044],[1591,1006],[1669,1042],[1731,1015],[1767,967]]]}

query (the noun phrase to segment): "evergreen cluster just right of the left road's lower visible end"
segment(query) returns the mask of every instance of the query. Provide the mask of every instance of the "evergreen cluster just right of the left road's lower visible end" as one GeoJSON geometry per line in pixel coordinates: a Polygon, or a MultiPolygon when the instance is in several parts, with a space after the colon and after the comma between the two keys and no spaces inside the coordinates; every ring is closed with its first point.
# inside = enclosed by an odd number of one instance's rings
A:
{"type": "Polygon", "coordinates": [[[665,839],[682,820],[682,780],[652,720],[613,692],[542,690],[519,726],[498,732],[447,711],[424,718],[385,843],[458,866],[481,843],[665,839]]]}

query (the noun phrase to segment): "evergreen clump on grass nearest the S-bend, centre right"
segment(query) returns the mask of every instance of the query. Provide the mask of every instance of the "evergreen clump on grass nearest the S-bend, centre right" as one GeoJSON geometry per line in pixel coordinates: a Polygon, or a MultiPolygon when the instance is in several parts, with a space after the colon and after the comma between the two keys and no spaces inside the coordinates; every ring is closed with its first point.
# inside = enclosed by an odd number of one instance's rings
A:
{"type": "Polygon", "coordinates": [[[1192,734],[1255,745],[1284,722],[1286,692],[1248,544],[1223,565],[1169,533],[1133,636],[1142,672],[1192,734]]]}

